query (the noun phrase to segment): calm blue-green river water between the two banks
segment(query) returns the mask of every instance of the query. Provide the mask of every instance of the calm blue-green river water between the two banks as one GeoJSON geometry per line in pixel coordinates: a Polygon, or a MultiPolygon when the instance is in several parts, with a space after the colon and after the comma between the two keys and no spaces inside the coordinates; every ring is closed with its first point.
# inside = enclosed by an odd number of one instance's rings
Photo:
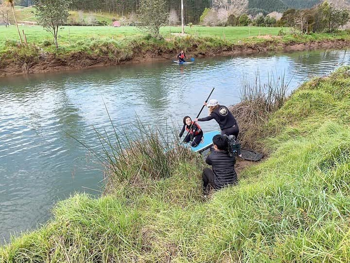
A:
{"type": "MultiPolygon", "coordinates": [[[[99,194],[92,189],[103,187],[103,169],[71,136],[98,148],[93,127],[111,131],[105,106],[114,125],[126,131],[137,117],[161,129],[167,122],[181,124],[184,115],[195,117],[211,87],[221,104],[239,102],[243,75],[253,78],[259,71],[266,82],[268,75],[285,73],[292,91],[349,61],[346,50],[312,51],[0,78],[0,239],[45,223],[51,207],[74,192],[99,194]]],[[[201,126],[218,129],[215,121],[201,126]]]]}

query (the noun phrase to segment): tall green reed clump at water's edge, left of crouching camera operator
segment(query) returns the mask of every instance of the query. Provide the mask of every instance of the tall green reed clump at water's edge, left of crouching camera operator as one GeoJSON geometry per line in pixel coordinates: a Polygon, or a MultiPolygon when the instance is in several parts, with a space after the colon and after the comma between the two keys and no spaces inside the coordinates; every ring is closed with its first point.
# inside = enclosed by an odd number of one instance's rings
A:
{"type": "Polygon", "coordinates": [[[167,124],[166,131],[158,128],[152,131],[139,119],[136,125],[124,130],[116,129],[111,119],[110,123],[113,127],[110,135],[95,130],[103,154],[87,147],[105,166],[105,192],[118,185],[144,186],[145,182],[169,178],[186,162],[201,166],[198,155],[178,138],[175,124],[167,124]]]}

